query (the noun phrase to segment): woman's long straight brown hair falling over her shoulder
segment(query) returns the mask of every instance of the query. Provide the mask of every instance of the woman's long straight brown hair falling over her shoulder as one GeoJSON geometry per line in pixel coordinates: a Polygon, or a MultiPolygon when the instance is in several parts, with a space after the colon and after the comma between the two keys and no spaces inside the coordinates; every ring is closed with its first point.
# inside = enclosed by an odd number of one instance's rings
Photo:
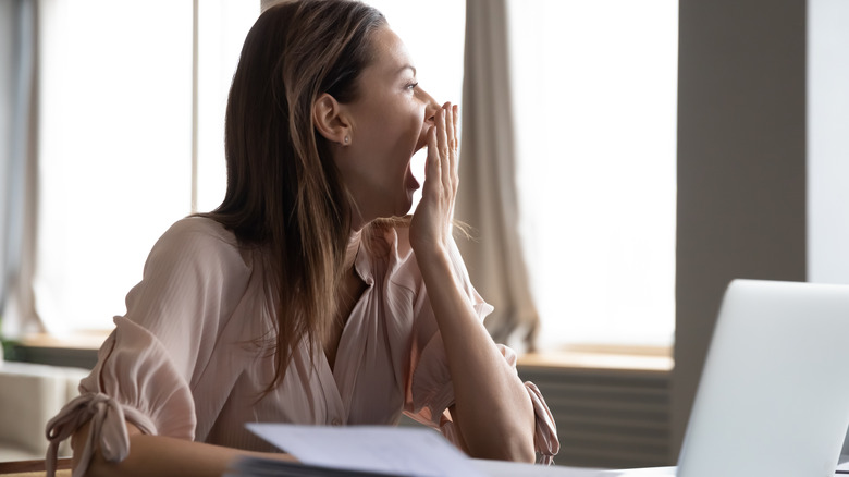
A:
{"type": "Polygon", "coordinates": [[[370,34],[385,23],[358,1],[285,2],[259,16],[242,49],[225,118],[227,191],[205,216],[258,247],[270,271],[276,369],[267,392],[300,340],[315,346],[327,332],[350,234],[348,195],[312,106],[323,93],[356,99],[370,34]]]}

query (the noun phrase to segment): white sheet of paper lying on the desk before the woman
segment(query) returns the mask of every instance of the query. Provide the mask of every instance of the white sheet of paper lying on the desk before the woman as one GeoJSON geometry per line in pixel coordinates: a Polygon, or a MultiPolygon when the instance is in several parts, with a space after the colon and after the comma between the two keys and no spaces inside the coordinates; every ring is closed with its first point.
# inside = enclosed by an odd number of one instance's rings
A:
{"type": "Polygon", "coordinates": [[[416,477],[484,477],[436,431],[389,426],[247,424],[305,464],[416,477]]]}

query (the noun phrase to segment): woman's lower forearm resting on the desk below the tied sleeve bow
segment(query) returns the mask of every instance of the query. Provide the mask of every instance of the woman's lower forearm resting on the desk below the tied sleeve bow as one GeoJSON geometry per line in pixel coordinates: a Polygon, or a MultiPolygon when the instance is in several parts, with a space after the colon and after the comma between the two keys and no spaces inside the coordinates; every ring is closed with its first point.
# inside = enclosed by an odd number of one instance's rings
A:
{"type": "MultiPolygon", "coordinates": [[[[74,469],[88,440],[89,426],[90,423],[81,427],[71,438],[74,469]]],[[[131,423],[126,423],[126,427],[130,435],[130,455],[122,462],[111,463],[103,458],[99,449],[95,449],[85,474],[87,477],[220,477],[233,461],[242,456],[295,461],[288,454],[263,454],[164,436],[148,436],[131,423]]]]}

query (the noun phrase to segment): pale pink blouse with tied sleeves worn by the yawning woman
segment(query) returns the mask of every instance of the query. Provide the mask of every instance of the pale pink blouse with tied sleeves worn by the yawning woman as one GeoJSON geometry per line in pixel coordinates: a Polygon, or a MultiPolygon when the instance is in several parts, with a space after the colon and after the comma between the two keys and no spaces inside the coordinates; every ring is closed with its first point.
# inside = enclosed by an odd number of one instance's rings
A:
{"type": "MultiPolygon", "coordinates": [[[[120,462],[130,451],[124,419],[143,432],[231,448],[274,451],[245,423],[395,425],[401,414],[455,441],[447,407],[454,402],[439,328],[407,229],[386,233],[369,253],[359,234],[349,247],[368,288],[346,322],[331,367],[322,346],[294,353],[283,382],[274,376],[273,314],[262,259],[235,235],[205,218],[176,222],[153,246],[144,278],[115,317],[91,374],[47,427],[48,465],[59,443],[91,419],[89,441],[74,476],[99,448],[120,462]]],[[[454,243],[451,258],[480,319],[492,311],[472,288],[454,243]]],[[[516,354],[499,345],[513,366],[516,354]]],[[[556,427],[533,383],[526,388],[537,415],[536,447],[544,462],[557,453],[556,427]]],[[[52,476],[52,469],[48,469],[52,476]]]]}

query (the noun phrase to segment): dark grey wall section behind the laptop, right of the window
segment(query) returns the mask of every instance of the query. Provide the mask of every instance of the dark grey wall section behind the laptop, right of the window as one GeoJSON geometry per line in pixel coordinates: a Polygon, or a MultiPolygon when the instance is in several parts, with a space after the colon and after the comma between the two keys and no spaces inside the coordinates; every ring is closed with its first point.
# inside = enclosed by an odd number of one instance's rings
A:
{"type": "Polygon", "coordinates": [[[680,0],[679,15],[672,461],[725,286],[805,280],[805,1],[680,0]]]}

